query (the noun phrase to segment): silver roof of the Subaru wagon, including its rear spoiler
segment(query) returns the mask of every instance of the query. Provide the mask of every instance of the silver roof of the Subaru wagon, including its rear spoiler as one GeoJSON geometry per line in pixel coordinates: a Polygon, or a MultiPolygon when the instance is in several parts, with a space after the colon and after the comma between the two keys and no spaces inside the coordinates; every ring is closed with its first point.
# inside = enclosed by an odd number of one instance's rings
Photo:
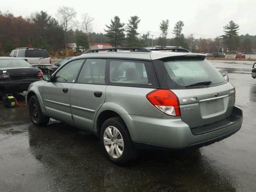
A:
{"type": "Polygon", "coordinates": [[[133,58],[144,60],[157,60],[166,57],[174,56],[206,56],[206,54],[191,53],[191,52],[170,52],[170,51],[151,51],[151,52],[130,52],[130,51],[118,51],[118,52],[96,52],[86,53],[75,58],[133,58]]]}

